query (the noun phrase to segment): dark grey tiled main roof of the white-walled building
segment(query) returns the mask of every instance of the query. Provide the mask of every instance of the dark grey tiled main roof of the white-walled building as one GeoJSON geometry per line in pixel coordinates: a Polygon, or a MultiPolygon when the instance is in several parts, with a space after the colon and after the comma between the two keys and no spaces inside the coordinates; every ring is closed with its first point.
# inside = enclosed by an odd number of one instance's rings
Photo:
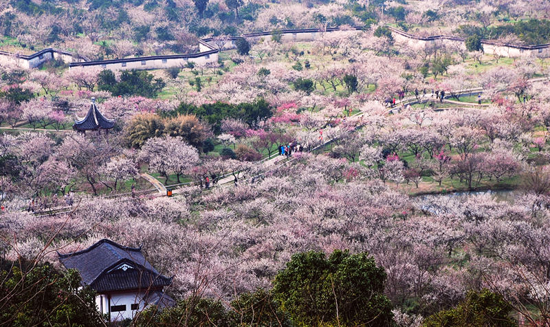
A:
{"type": "Polygon", "coordinates": [[[100,240],[83,251],[58,256],[65,268],[78,270],[82,284],[100,293],[168,286],[172,282],[145,260],[141,248],[122,246],[111,240],[100,240]],[[124,264],[131,268],[121,269],[124,264]]]}

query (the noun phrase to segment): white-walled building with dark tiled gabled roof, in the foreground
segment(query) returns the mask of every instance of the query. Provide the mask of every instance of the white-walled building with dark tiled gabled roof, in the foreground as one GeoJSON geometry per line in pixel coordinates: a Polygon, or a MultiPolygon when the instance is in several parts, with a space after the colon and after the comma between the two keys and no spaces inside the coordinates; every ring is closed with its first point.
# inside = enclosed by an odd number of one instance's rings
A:
{"type": "Polygon", "coordinates": [[[80,284],[96,291],[96,306],[110,321],[133,319],[152,304],[173,306],[174,299],[164,293],[173,277],[165,277],[145,260],[141,246],[131,248],[103,239],[83,251],[57,253],[61,264],[76,269],[80,284]]]}

